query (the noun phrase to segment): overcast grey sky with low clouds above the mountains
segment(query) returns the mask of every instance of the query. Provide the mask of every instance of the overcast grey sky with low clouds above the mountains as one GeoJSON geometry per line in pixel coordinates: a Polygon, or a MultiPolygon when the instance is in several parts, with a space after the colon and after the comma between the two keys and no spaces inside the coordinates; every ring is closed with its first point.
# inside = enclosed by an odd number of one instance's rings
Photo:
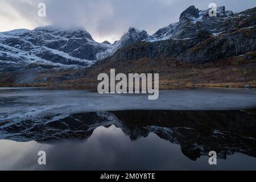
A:
{"type": "Polygon", "coordinates": [[[47,24],[85,27],[98,42],[118,40],[129,27],[154,34],[175,23],[191,5],[200,10],[209,3],[235,13],[256,6],[255,0],[0,0],[0,31],[34,29],[47,24]],[[46,3],[47,16],[38,16],[38,3],[46,3]]]}

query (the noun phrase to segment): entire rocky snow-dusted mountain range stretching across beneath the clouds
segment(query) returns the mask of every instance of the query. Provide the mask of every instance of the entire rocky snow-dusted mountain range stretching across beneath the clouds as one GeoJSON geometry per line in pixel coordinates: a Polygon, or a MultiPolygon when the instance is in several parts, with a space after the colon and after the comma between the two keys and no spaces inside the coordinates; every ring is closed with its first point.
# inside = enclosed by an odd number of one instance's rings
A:
{"type": "Polygon", "coordinates": [[[160,28],[153,35],[129,28],[113,44],[97,43],[83,28],[47,26],[2,32],[0,73],[22,75],[18,80],[11,76],[18,83],[38,82],[36,73],[90,67],[106,57],[137,60],[164,56],[198,64],[255,51],[255,8],[233,14],[218,7],[217,17],[209,17],[208,12],[190,6],[181,13],[179,22],[160,28]],[[24,80],[27,72],[32,78],[24,80]]]}

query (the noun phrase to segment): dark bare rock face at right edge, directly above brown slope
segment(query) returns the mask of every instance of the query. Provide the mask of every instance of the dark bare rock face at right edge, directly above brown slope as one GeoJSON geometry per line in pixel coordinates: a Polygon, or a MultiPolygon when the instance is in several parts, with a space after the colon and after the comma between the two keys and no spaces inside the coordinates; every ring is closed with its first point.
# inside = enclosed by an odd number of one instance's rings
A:
{"type": "Polygon", "coordinates": [[[209,63],[210,61],[227,59],[231,56],[239,56],[255,51],[255,31],[256,27],[206,39],[197,46],[181,53],[177,56],[177,59],[186,60],[190,63],[209,63]]]}

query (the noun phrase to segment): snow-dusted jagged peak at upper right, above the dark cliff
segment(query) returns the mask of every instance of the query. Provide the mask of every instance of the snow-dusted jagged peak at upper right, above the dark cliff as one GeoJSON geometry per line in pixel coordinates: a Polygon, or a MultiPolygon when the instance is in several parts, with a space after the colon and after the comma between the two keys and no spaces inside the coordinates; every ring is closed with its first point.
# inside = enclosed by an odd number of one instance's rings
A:
{"type": "Polygon", "coordinates": [[[209,10],[199,10],[190,6],[180,15],[177,23],[160,28],[155,34],[146,39],[147,42],[156,42],[168,39],[189,39],[199,36],[203,32],[219,34],[229,27],[223,24],[226,18],[233,15],[232,11],[226,11],[225,6],[217,7],[217,17],[209,17],[209,10]]]}

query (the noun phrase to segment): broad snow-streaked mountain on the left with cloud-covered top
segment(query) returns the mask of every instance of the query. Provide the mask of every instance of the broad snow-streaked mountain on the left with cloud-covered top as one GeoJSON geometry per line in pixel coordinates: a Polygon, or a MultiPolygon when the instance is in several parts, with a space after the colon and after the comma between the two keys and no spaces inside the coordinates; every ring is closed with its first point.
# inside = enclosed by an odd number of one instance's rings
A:
{"type": "Polygon", "coordinates": [[[88,67],[96,60],[96,54],[107,48],[108,45],[95,42],[82,29],[60,30],[47,26],[35,30],[1,32],[1,71],[8,71],[10,64],[88,67]]]}

